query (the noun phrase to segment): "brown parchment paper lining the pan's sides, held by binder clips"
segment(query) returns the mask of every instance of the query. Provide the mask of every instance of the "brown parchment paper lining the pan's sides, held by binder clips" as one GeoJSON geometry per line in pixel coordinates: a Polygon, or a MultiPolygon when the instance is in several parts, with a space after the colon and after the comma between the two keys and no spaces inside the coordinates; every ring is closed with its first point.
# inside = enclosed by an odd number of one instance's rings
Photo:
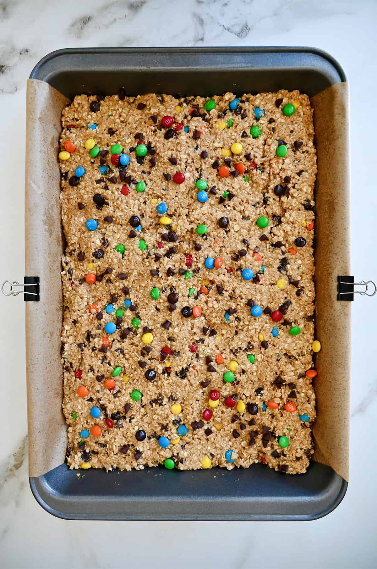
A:
{"type": "MultiPolygon", "coordinates": [[[[40,301],[25,303],[30,476],[41,476],[62,464],[67,446],[61,410],[60,260],[64,240],[57,152],[61,109],[68,102],[44,81],[28,80],[25,274],[40,277],[40,301]]],[[[314,459],[348,480],[351,304],[337,301],[337,276],[351,274],[348,84],[333,85],[311,102],[318,154],[316,337],[322,344],[314,379],[318,408],[314,459]]]]}

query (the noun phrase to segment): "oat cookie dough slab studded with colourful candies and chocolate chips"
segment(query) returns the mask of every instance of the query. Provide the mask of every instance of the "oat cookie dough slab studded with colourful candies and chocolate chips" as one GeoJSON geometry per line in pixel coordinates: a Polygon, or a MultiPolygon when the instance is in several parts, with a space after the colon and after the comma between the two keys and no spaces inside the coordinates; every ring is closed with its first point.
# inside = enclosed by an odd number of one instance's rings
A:
{"type": "Polygon", "coordinates": [[[70,468],[305,472],[312,114],[285,90],[64,108],[70,468]]]}

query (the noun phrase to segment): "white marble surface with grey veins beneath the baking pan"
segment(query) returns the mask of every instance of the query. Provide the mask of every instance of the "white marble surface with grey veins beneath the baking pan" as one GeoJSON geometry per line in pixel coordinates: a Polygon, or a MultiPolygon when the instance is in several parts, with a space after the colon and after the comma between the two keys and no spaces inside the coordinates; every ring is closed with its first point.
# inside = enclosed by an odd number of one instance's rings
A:
{"type": "MultiPolygon", "coordinates": [[[[351,85],[353,274],[376,279],[376,19],[373,0],[0,2],[0,281],[23,277],[25,84],[32,67],[63,47],[160,45],[307,45],[339,60],[351,85]]],[[[53,518],[32,497],[24,306],[20,297],[1,297],[0,567],[376,567],[376,303],[377,296],[353,304],[350,485],[332,514],[310,523],[109,523],[53,518]]]]}

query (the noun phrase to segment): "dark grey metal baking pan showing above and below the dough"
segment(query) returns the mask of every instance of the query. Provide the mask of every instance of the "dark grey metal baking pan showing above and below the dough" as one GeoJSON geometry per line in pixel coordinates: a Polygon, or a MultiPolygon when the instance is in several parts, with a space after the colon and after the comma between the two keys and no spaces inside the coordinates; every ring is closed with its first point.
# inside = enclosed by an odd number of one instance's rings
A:
{"type": "MultiPolygon", "coordinates": [[[[103,48],[59,50],[31,73],[69,98],[81,93],[111,95],[169,93],[236,95],[280,88],[314,96],[346,81],[327,53],[305,47],[103,48]]],[[[57,143],[57,141],[56,141],[57,143]]],[[[77,471],[61,464],[30,478],[45,510],[67,519],[309,520],[338,506],[347,483],[313,462],[303,475],[287,476],[255,464],[227,471],[77,471]]]]}

